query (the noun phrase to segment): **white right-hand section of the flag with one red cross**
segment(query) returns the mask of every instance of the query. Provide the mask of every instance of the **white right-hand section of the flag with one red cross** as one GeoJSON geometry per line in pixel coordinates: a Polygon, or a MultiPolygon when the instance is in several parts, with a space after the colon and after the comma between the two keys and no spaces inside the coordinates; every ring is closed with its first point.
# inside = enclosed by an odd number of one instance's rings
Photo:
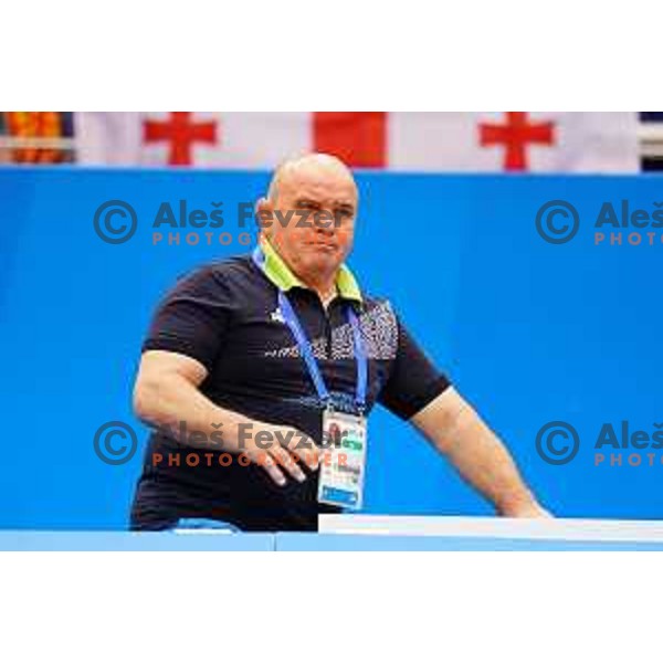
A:
{"type": "Polygon", "coordinates": [[[460,172],[636,172],[636,113],[393,113],[389,164],[460,172]]]}

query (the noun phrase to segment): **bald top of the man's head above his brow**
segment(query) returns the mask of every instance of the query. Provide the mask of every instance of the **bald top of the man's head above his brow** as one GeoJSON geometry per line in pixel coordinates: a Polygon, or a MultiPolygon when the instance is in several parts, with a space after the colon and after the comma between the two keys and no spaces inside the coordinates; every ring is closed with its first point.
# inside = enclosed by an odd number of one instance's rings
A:
{"type": "Polygon", "coordinates": [[[283,161],[272,176],[267,198],[276,203],[283,187],[298,186],[302,181],[330,181],[350,185],[357,199],[357,185],[350,169],[333,155],[313,152],[283,161]]]}

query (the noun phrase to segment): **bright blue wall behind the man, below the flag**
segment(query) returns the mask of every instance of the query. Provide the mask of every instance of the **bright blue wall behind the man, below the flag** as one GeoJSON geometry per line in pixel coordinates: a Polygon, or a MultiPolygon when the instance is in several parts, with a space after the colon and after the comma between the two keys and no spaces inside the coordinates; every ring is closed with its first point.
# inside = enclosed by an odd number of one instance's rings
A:
{"type": "MultiPolygon", "coordinates": [[[[246,172],[0,170],[0,527],[125,527],[141,454],[106,465],[94,433],[124,420],[145,443],[130,391],[156,302],[188,269],[246,250],[189,246],[183,236],[180,246],[154,246],[151,221],[161,201],[187,199],[209,212],[222,200],[225,230],[236,234],[236,204],[266,181],[267,173],[246,172]],[[109,199],[130,202],[139,218],[122,245],[93,229],[96,208],[109,199]]],[[[629,198],[651,210],[660,182],[359,176],[350,263],[364,286],[392,299],[559,515],[663,517],[660,452],[653,467],[628,466],[625,456],[621,467],[594,467],[592,449],[604,421],[628,419],[650,432],[663,421],[663,244],[594,246],[585,223],[603,200],[629,198]],[[571,242],[552,245],[534,219],[559,198],[576,204],[583,225],[571,242]],[[548,465],[535,450],[551,420],[580,433],[567,465],[548,465]]],[[[383,411],[370,422],[366,501],[373,513],[492,513],[383,411]]]]}

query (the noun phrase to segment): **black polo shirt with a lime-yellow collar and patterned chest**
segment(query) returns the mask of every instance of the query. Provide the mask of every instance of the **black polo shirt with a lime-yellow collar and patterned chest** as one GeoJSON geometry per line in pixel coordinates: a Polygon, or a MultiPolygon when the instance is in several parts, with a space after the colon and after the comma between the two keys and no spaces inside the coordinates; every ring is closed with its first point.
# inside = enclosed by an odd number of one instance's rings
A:
{"type": "MultiPolygon", "coordinates": [[[[158,307],[143,350],[197,359],[209,371],[200,390],[212,402],[320,440],[324,403],[278,311],[282,288],[306,330],[338,410],[355,411],[357,366],[346,306],[358,314],[368,355],[367,413],[379,402],[410,419],[449,386],[389,302],[362,294],[345,265],[337,280],[339,294],[325,311],[317,294],[266,243],[262,255],[262,266],[243,255],[181,278],[158,307]]],[[[371,439],[370,427],[368,443],[380,443],[371,439]]],[[[131,508],[131,528],[162,529],[180,517],[207,517],[248,532],[316,530],[318,513],[340,511],[317,503],[317,472],[304,466],[304,483],[288,476],[281,487],[257,465],[223,466],[219,453],[152,432],[131,508]],[[199,462],[185,462],[185,457],[191,461],[190,454],[197,454],[199,462]],[[159,456],[160,462],[152,462],[159,456]],[[168,462],[176,457],[179,462],[168,462]]]]}

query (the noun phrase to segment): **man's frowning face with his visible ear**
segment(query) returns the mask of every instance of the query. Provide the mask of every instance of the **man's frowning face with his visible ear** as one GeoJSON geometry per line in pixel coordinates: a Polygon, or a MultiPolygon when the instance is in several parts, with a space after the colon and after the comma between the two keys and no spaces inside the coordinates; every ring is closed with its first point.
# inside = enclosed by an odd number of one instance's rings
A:
{"type": "Polygon", "coordinates": [[[333,274],[352,248],[357,189],[338,169],[298,169],[283,177],[269,212],[265,234],[295,273],[333,274]]]}

